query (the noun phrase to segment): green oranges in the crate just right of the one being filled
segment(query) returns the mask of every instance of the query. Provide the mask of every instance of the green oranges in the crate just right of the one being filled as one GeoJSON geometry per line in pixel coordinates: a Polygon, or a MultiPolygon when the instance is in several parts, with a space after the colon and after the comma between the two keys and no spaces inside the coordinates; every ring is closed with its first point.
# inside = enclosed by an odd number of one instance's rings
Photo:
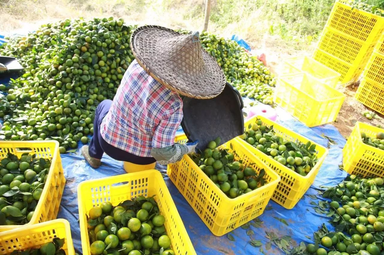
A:
{"type": "Polygon", "coordinates": [[[287,141],[276,134],[273,126],[264,125],[261,119],[250,124],[240,138],[303,176],[306,176],[318,161],[315,144],[287,141]]]}

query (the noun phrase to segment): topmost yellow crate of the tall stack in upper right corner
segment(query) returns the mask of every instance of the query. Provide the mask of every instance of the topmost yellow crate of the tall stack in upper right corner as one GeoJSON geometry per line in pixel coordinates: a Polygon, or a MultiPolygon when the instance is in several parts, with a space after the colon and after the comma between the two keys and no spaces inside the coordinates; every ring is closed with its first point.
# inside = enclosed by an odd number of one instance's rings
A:
{"type": "Polygon", "coordinates": [[[377,36],[384,31],[384,17],[352,8],[345,3],[345,0],[334,3],[326,26],[369,44],[377,41],[377,36]]]}

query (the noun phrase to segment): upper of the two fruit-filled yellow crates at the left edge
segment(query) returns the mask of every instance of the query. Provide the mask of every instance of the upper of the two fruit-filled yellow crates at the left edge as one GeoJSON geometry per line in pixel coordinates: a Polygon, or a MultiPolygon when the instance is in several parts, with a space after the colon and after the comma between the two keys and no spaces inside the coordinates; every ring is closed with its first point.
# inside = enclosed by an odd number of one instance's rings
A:
{"type": "MultiPolygon", "coordinates": [[[[57,141],[0,141],[0,160],[12,153],[20,157],[28,152],[36,154],[38,158],[50,159],[51,168],[48,173],[43,192],[37,203],[31,221],[25,225],[32,225],[43,221],[56,219],[61,197],[63,196],[65,177],[57,141]]],[[[15,229],[23,225],[0,226],[0,232],[15,229]]]]}

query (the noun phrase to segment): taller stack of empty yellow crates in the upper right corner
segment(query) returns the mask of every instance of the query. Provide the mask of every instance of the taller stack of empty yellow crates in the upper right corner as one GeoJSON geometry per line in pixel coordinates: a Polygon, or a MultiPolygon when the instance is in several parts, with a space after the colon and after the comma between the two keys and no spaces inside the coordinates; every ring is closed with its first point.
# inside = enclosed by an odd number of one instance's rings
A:
{"type": "Polygon", "coordinates": [[[334,4],[313,58],[354,82],[368,62],[381,34],[384,17],[352,8],[346,0],[334,4]]]}

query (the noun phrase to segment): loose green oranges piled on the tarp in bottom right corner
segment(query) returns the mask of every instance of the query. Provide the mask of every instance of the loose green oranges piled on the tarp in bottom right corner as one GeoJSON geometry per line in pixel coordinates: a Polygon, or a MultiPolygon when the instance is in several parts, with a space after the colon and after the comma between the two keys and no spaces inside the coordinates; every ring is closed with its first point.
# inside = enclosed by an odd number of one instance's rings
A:
{"type": "Polygon", "coordinates": [[[380,255],[384,252],[383,178],[351,175],[343,183],[326,190],[323,196],[332,199],[328,215],[331,215],[337,232],[319,236],[316,241],[324,248],[308,244],[308,253],[380,255]]]}

